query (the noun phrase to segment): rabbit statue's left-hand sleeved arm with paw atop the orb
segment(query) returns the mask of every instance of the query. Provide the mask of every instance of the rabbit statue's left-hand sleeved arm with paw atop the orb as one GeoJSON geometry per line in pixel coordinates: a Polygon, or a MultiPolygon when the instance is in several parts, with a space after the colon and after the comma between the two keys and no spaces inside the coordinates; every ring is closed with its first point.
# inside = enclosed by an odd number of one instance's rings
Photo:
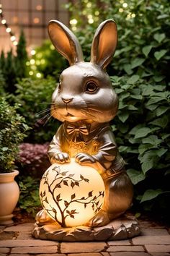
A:
{"type": "Polygon", "coordinates": [[[50,142],[48,148],[48,156],[51,163],[67,163],[70,161],[68,153],[65,153],[61,150],[61,139],[60,135],[62,132],[63,126],[59,127],[58,131],[53,137],[52,142],[50,142]]]}

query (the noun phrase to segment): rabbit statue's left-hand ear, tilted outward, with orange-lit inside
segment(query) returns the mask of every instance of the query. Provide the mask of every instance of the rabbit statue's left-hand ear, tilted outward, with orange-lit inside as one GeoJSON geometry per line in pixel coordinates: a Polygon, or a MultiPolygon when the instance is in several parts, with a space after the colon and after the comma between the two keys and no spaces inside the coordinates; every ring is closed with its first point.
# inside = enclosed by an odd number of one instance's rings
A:
{"type": "Polygon", "coordinates": [[[58,20],[50,20],[48,33],[55,48],[61,55],[68,59],[70,65],[83,61],[83,53],[79,40],[68,27],[58,20]]]}

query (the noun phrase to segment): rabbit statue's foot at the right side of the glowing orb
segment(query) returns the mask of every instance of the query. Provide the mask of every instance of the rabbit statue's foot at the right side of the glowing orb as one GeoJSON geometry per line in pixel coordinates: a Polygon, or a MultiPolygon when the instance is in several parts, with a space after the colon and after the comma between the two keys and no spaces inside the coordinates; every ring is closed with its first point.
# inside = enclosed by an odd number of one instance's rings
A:
{"type": "Polygon", "coordinates": [[[86,226],[91,226],[91,227],[105,226],[109,223],[109,221],[110,220],[107,212],[105,212],[104,210],[99,210],[99,213],[97,213],[96,216],[91,218],[89,222],[86,223],[86,226]]]}

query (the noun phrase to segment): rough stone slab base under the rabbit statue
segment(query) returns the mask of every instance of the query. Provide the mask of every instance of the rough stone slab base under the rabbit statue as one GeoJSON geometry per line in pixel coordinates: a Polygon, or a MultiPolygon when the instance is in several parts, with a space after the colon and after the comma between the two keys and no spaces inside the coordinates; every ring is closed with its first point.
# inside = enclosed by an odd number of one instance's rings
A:
{"type": "Polygon", "coordinates": [[[63,228],[58,223],[38,226],[35,223],[35,229],[32,236],[35,239],[68,241],[68,242],[88,242],[88,241],[111,241],[129,239],[140,234],[138,221],[132,217],[123,216],[98,228],[88,226],[76,226],[73,228],[63,228]]]}

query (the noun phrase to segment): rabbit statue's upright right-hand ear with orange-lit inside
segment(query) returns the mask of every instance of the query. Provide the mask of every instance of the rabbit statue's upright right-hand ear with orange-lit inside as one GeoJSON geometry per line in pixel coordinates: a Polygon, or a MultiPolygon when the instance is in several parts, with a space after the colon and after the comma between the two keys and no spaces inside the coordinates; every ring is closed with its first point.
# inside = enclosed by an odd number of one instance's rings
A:
{"type": "Polygon", "coordinates": [[[113,20],[102,22],[94,35],[91,62],[105,69],[117,46],[117,25],[113,20]]]}

